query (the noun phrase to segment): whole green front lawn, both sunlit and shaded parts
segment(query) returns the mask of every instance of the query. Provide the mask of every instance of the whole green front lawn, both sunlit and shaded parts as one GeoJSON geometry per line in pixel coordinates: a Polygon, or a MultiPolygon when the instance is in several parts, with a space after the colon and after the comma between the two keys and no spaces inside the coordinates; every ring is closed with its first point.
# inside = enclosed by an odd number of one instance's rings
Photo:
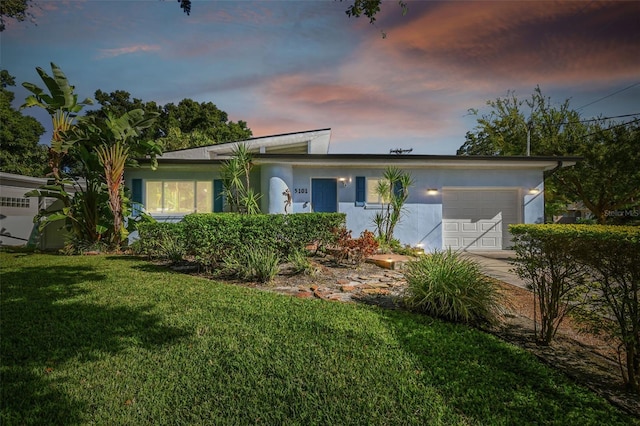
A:
{"type": "Polygon", "coordinates": [[[0,253],[1,423],[639,424],[463,325],[0,253]]]}

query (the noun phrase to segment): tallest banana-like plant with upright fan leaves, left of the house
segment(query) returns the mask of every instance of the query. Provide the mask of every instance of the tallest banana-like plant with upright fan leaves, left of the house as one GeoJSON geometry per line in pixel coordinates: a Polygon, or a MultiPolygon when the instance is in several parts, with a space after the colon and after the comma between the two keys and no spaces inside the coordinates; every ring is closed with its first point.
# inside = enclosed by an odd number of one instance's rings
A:
{"type": "Polygon", "coordinates": [[[64,134],[73,128],[74,121],[82,108],[86,105],[93,105],[93,100],[86,98],[82,102],[78,102],[74,86],[69,84],[60,67],[53,62],[51,63],[51,76],[40,67],[37,67],[36,71],[48,89],[48,93],[33,83],[22,83],[22,86],[32,95],[25,99],[25,103],[20,109],[40,107],[51,116],[53,136],[49,147],[49,167],[56,183],[59,184],[63,180],[60,170],[62,161],[73,146],[64,137],[64,134]]]}

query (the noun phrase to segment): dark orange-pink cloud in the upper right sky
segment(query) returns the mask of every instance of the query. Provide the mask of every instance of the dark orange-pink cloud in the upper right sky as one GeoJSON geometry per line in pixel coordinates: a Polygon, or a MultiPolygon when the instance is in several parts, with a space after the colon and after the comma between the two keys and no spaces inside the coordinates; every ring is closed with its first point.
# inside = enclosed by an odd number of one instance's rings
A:
{"type": "Polygon", "coordinates": [[[636,2],[437,3],[371,45],[409,69],[465,80],[632,78],[640,67],[638,13],[636,2]]]}

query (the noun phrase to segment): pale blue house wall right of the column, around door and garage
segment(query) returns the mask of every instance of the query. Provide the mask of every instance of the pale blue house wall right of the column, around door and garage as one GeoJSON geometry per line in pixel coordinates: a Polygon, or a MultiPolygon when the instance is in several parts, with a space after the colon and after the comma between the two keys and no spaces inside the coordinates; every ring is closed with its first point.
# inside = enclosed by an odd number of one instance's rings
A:
{"type": "MultiPolygon", "coordinates": [[[[416,169],[403,168],[411,173],[414,185],[409,188],[406,212],[396,226],[394,237],[402,244],[420,245],[426,251],[442,248],[442,190],[443,188],[516,189],[522,203],[520,221],[523,223],[544,222],[544,187],[542,170],[489,170],[489,169],[416,169]],[[530,195],[529,189],[537,188],[538,194],[530,195]],[[435,195],[427,194],[427,189],[437,189],[435,195]]],[[[293,173],[293,211],[309,212],[311,201],[311,179],[344,178],[343,187],[338,182],[338,211],[346,213],[347,228],[354,236],[365,229],[375,232],[373,217],[380,206],[355,205],[355,178],[380,178],[384,168],[353,168],[349,171],[336,167],[302,168],[295,167],[293,173]]]]}

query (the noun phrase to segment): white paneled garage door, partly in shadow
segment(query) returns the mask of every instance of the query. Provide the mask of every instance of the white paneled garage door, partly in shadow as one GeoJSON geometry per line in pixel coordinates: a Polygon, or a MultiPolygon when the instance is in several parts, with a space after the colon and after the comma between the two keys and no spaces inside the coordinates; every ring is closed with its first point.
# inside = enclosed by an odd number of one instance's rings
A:
{"type": "Polygon", "coordinates": [[[520,222],[518,190],[445,189],[442,192],[442,238],[445,248],[509,248],[509,224],[520,222]]]}

